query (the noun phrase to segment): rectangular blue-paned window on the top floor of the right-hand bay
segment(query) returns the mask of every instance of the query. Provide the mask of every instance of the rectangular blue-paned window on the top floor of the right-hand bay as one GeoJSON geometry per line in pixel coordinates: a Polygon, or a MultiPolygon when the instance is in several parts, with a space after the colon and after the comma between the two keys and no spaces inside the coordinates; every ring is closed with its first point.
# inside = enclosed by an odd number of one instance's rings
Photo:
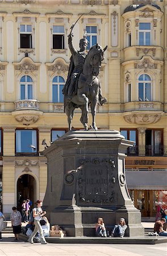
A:
{"type": "Polygon", "coordinates": [[[151,23],[139,23],[139,46],[151,46],[151,23]]]}

